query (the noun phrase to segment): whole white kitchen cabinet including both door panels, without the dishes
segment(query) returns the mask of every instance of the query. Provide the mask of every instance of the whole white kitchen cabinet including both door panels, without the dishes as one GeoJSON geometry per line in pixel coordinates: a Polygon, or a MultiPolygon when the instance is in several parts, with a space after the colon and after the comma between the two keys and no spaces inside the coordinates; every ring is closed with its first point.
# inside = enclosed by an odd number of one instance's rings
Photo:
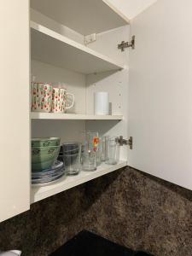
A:
{"type": "MultiPolygon", "coordinates": [[[[1,139],[4,145],[1,155],[6,163],[1,171],[3,212],[0,213],[0,219],[10,218],[26,211],[30,203],[124,166],[135,167],[192,189],[192,79],[187,73],[188,69],[177,64],[179,59],[187,67],[191,66],[192,55],[187,50],[190,38],[185,40],[186,47],[177,55],[176,49],[183,49],[185,30],[180,32],[180,40],[174,41],[177,42],[174,49],[172,42],[177,35],[172,33],[171,28],[173,25],[180,27],[181,22],[182,27],[187,27],[189,10],[185,19],[177,19],[183,11],[180,9],[170,20],[168,10],[171,9],[171,3],[162,0],[129,24],[124,15],[106,4],[109,1],[31,0],[29,27],[27,1],[21,2],[19,6],[12,6],[11,10],[15,9],[15,24],[8,24],[4,29],[5,40],[1,43],[5,48],[9,45],[7,42],[11,41],[11,55],[2,58],[6,61],[1,62],[1,67],[4,71],[3,84],[9,84],[6,93],[11,96],[12,104],[17,105],[16,113],[19,114],[13,117],[13,105],[9,104],[6,105],[9,111],[1,112],[1,139]],[[20,11],[22,15],[18,19],[17,12],[20,11]],[[154,19],[154,15],[158,16],[162,12],[166,13],[164,20],[154,19]],[[17,33],[13,44],[15,27],[17,33]],[[161,38],[156,29],[169,40],[161,38]],[[28,49],[29,31],[31,51],[28,49]],[[96,41],[85,44],[86,36],[93,33],[96,33],[96,41]],[[133,35],[136,36],[135,49],[118,49],[118,44],[130,42],[133,35]],[[166,56],[169,61],[166,61],[166,56]],[[30,58],[31,77],[35,77],[37,82],[62,82],[75,95],[75,106],[67,114],[30,113],[30,58]],[[11,78],[8,74],[10,70],[14,72],[11,78]],[[16,87],[13,87],[13,83],[16,87]],[[108,91],[110,95],[112,109],[107,116],[94,115],[93,95],[101,90],[108,91]],[[20,101],[16,101],[18,97],[20,101]],[[96,172],[63,177],[58,183],[32,188],[29,195],[30,131],[32,137],[61,137],[61,142],[67,142],[81,141],[81,131],[84,130],[127,139],[132,137],[132,148],[127,145],[121,147],[118,165],[103,164],[96,172]],[[8,157],[10,154],[11,161],[8,157]]],[[[178,5],[176,2],[174,4],[178,5]]],[[[2,5],[4,7],[4,3],[2,5]]],[[[6,15],[3,11],[1,19],[5,20],[6,15]]],[[[2,49],[1,53],[5,55],[6,51],[2,49]]],[[[4,96],[2,109],[5,102],[4,96]]]]}

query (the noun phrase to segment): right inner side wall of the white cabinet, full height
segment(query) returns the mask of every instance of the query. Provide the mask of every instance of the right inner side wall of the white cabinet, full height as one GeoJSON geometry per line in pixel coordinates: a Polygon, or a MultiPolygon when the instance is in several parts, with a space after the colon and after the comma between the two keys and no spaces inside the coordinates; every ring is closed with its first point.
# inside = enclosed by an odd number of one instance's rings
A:
{"type": "MultiPolygon", "coordinates": [[[[86,77],[86,113],[94,114],[94,92],[108,91],[110,114],[123,114],[122,121],[96,120],[86,121],[86,129],[99,131],[100,135],[120,136],[127,138],[128,126],[128,84],[129,84],[129,51],[121,51],[118,44],[128,41],[130,27],[121,26],[97,35],[96,42],[89,44],[91,49],[96,49],[105,55],[125,64],[121,71],[95,73],[86,77]]],[[[120,150],[120,159],[127,160],[127,146],[120,150]]]]}

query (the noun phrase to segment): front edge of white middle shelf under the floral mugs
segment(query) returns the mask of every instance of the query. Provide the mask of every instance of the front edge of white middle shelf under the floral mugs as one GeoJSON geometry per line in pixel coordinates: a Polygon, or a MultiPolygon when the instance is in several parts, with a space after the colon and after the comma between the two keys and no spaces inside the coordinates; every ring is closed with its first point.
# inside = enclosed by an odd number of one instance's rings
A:
{"type": "Polygon", "coordinates": [[[77,113],[38,113],[32,112],[31,119],[58,119],[58,120],[122,120],[123,115],[94,115],[77,113]]]}

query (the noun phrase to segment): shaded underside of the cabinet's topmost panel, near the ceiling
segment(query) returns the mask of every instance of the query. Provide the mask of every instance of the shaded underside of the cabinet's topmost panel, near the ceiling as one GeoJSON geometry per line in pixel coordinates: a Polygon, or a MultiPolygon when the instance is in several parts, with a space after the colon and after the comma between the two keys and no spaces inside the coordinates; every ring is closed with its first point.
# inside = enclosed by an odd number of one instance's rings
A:
{"type": "Polygon", "coordinates": [[[31,7],[82,35],[125,26],[128,20],[102,0],[32,0],[31,7]]]}

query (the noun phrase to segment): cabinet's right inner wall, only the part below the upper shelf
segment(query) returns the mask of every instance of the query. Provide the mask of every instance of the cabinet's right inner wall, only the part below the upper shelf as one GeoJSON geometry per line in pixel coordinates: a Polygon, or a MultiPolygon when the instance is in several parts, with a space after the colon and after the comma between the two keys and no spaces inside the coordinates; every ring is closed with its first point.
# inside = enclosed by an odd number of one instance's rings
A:
{"type": "MultiPolygon", "coordinates": [[[[87,113],[94,114],[94,92],[108,91],[110,114],[123,114],[124,119],[86,121],[86,129],[99,131],[101,136],[127,137],[128,125],[128,70],[108,73],[98,73],[87,76],[87,113]]],[[[127,146],[120,150],[120,159],[127,160],[127,146]]]]}

